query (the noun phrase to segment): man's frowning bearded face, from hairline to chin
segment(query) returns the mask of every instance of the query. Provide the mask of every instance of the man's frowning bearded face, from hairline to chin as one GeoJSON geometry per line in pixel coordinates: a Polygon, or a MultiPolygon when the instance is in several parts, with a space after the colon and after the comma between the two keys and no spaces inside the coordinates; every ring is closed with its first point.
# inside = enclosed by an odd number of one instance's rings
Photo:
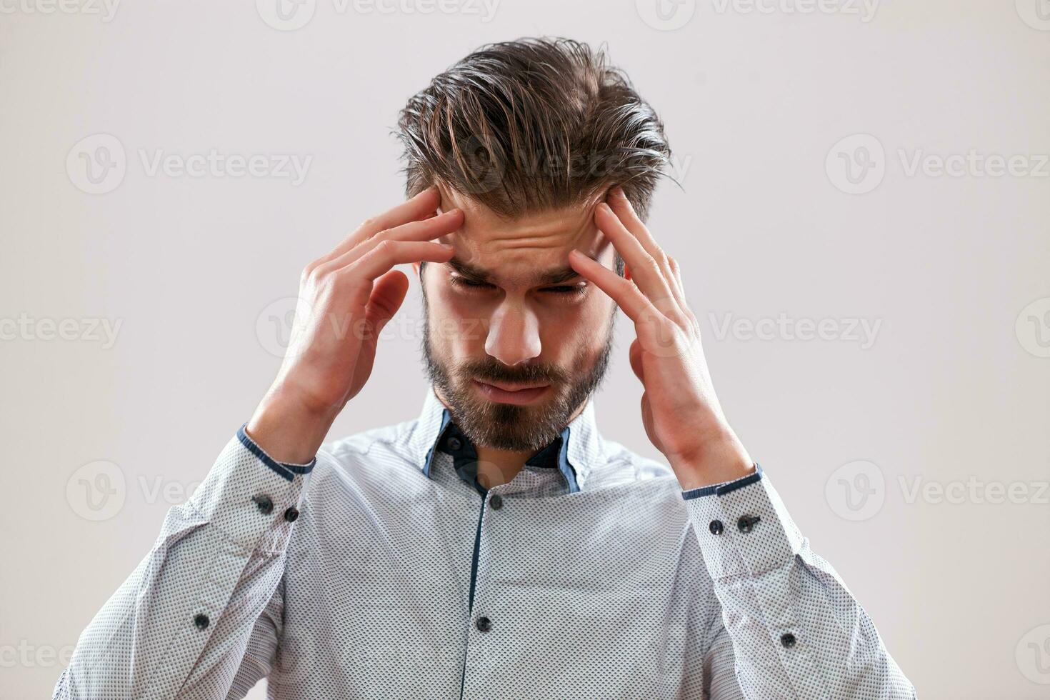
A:
{"type": "Polygon", "coordinates": [[[442,188],[441,210],[464,217],[439,239],[453,259],[423,269],[423,352],[438,396],[476,445],[541,449],[601,382],[615,307],[568,254],[579,248],[612,268],[593,219],[603,198],[508,219],[442,188]]]}

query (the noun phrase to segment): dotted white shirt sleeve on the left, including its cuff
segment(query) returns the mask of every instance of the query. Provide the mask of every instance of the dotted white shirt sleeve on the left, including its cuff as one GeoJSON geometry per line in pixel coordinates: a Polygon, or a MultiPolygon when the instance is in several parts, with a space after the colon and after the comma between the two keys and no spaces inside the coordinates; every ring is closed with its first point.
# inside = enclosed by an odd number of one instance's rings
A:
{"type": "Polygon", "coordinates": [[[244,685],[267,673],[265,622],[280,617],[275,594],[315,464],[274,461],[242,426],[81,634],[54,698],[222,699],[235,676],[244,685]],[[238,674],[250,641],[256,671],[238,674]]]}

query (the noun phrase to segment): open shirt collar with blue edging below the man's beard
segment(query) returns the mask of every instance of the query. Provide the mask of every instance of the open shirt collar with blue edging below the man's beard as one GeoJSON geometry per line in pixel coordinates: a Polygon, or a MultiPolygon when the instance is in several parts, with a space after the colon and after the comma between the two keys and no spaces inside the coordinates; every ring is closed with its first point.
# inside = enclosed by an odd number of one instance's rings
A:
{"type": "MultiPolygon", "coordinates": [[[[434,386],[427,385],[422,411],[412,427],[408,447],[416,466],[428,478],[433,478],[430,465],[434,451],[450,422],[448,409],[438,399],[434,386]]],[[[594,403],[588,398],[580,415],[565,426],[552,443],[529,458],[526,464],[556,465],[569,491],[574,493],[585,488],[587,478],[602,453],[603,441],[594,418],[594,403]]]]}

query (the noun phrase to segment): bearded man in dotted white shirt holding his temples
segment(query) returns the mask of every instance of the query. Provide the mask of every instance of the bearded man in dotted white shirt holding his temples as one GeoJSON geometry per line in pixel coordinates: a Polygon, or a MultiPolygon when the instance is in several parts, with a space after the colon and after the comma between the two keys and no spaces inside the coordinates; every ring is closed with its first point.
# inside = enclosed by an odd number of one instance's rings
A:
{"type": "Polygon", "coordinates": [[[276,380],[57,698],[912,698],[719,408],[645,225],[669,149],[601,52],[486,46],[401,113],[403,204],[311,262],[276,380]],[[416,420],[330,444],[410,263],[416,420]],[[616,309],[668,465],[598,432],[616,309]]]}

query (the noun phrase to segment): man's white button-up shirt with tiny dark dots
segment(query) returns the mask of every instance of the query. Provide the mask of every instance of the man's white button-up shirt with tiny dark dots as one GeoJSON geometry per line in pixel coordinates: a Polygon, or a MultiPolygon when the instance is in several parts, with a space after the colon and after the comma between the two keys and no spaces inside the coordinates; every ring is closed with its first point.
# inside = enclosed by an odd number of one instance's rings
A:
{"type": "Polygon", "coordinates": [[[483,494],[443,451],[423,473],[442,411],[428,389],[418,419],[326,443],[309,473],[232,439],[54,697],[243,698],[261,678],[271,700],[916,697],[769,476],[687,499],[588,404],[578,491],[531,465],[483,494]]]}

